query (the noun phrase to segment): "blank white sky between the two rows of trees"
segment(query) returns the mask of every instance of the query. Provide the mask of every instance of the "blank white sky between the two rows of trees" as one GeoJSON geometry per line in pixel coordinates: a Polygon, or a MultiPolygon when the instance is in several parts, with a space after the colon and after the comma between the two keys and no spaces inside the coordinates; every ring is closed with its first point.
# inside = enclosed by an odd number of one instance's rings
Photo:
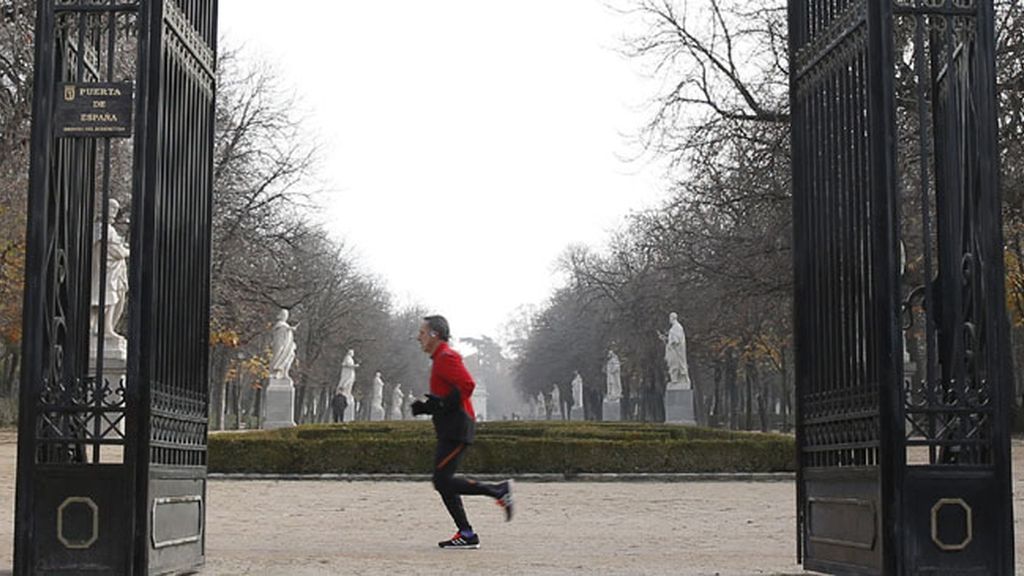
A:
{"type": "Polygon", "coordinates": [[[325,146],[329,230],[457,337],[497,335],[568,244],[662,197],[621,160],[654,90],[615,51],[628,25],[601,0],[220,1],[325,146]]]}

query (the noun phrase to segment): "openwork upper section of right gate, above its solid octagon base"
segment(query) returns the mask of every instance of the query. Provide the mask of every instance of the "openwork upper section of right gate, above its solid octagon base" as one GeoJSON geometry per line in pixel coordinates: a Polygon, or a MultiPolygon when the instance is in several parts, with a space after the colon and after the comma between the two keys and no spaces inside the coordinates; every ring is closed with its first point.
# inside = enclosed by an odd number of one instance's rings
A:
{"type": "MultiPolygon", "coordinates": [[[[1002,375],[987,348],[1002,313],[986,306],[985,236],[998,220],[980,205],[978,17],[974,1],[897,7],[905,352],[904,413],[910,464],[990,465],[1002,375]],[[934,155],[934,156],[933,156],[934,155]],[[915,450],[914,448],[920,448],[915,450]]],[[[989,52],[990,55],[990,52],[989,52]]],[[[990,113],[991,111],[989,111],[990,113]]],[[[993,260],[995,260],[993,262],[993,260]]],[[[998,360],[996,360],[998,362],[998,360]]],[[[1012,380],[1012,378],[1010,378],[1012,380]]],[[[1005,383],[1001,383],[1005,386],[1005,383]]]]}

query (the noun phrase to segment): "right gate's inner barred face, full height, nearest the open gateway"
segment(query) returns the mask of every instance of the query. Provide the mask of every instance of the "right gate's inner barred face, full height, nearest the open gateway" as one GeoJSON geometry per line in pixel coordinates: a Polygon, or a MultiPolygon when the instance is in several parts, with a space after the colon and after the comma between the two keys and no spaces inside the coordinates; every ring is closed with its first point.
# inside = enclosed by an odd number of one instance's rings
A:
{"type": "Polygon", "coordinates": [[[790,3],[798,554],[808,568],[864,574],[884,571],[895,305],[876,8],[790,3]]]}

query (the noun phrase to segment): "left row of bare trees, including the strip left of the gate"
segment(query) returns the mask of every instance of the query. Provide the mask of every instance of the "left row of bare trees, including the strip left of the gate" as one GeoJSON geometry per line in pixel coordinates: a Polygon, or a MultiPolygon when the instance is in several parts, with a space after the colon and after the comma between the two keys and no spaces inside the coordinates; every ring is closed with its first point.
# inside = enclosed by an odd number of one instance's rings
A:
{"type": "MultiPolygon", "coordinates": [[[[0,0],[0,398],[11,406],[20,362],[35,4],[0,0]]],[[[280,308],[299,324],[291,371],[297,420],[327,419],[349,348],[360,363],[357,398],[378,371],[389,384],[423,392],[429,364],[413,337],[424,311],[398,307],[385,284],[310,216],[323,201],[319,158],[298,102],[272,68],[239,51],[222,50],[217,74],[211,425],[256,423],[280,308]]],[[[113,194],[129,213],[127,186],[116,182],[113,194]]],[[[130,225],[123,219],[119,227],[130,225]]]]}

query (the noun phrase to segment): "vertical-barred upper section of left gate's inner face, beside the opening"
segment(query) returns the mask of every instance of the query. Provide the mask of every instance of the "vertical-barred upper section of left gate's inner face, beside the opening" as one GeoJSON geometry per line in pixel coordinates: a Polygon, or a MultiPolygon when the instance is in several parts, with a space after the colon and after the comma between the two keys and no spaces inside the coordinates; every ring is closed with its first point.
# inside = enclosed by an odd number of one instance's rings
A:
{"type": "MultiPolygon", "coordinates": [[[[143,221],[150,461],[206,466],[210,216],[213,186],[213,2],[164,2],[153,153],[158,165],[143,221]],[[152,222],[152,223],[151,223],[152,222]]],[[[140,231],[141,232],[141,231],[140,231]]],[[[140,261],[139,264],[142,262],[140,261]]]]}

